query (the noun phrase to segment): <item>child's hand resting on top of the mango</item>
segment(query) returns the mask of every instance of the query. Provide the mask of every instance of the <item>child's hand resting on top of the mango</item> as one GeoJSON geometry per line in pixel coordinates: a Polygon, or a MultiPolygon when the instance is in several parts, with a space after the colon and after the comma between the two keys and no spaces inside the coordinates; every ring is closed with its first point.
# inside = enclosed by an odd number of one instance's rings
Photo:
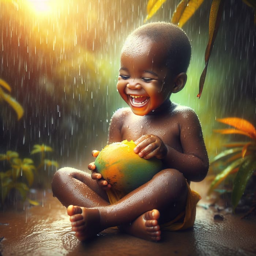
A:
{"type": "Polygon", "coordinates": [[[134,143],[136,147],[133,151],[145,159],[152,157],[163,159],[167,155],[167,147],[158,136],[153,134],[142,135],[134,143]]]}

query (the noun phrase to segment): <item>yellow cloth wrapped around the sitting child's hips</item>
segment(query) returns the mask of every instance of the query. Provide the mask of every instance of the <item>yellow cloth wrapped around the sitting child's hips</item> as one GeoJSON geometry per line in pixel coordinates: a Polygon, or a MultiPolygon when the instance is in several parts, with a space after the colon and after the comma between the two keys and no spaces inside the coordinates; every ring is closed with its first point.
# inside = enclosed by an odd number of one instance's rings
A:
{"type": "MultiPolygon", "coordinates": [[[[187,197],[187,205],[185,211],[181,212],[175,219],[164,223],[161,225],[161,230],[168,230],[168,231],[176,231],[182,229],[188,229],[194,225],[195,218],[196,218],[196,204],[201,199],[201,196],[196,192],[191,190],[188,182],[188,197],[187,197]]],[[[120,200],[124,193],[117,191],[113,188],[108,189],[107,195],[109,197],[110,204],[116,203],[120,200]]]]}

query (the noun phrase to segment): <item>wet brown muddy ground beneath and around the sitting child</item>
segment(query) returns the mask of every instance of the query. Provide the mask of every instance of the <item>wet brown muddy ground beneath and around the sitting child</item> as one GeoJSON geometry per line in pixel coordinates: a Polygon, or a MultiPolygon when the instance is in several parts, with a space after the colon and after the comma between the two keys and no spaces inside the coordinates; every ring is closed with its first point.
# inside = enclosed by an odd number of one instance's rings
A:
{"type": "Polygon", "coordinates": [[[203,196],[193,229],[163,232],[149,242],[106,229],[94,240],[79,242],[71,231],[66,209],[50,189],[37,191],[40,206],[0,211],[0,255],[256,255],[256,219],[241,219],[229,208],[212,205],[204,196],[205,182],[192,184],[203,196]]]}

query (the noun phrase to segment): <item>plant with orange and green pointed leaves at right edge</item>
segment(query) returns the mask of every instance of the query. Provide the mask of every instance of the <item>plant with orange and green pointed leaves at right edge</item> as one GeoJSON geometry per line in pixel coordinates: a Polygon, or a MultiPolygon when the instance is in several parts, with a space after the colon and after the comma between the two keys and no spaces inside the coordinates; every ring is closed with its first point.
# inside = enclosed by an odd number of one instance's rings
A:
{"type": "Polygon", "coordinates": [[[223,170],[212,181],[208,194],[214,191],[227,177],[230,177],[230,174],[236,173],[231,195],[231,203],[234,211],[245,191],[246,184],[256,170],[256,129],[251,123],[242,118],[227,117],[217,119],[217,121],[231,125],[234,128],[218,129],[214,130],[214,132],[221,134],[240,134],[251,139],[249,142],[226,144],[227,149],[219,153],[211,161],[211,165],[216,162],[222,162],[224,166],[223,170]]]}

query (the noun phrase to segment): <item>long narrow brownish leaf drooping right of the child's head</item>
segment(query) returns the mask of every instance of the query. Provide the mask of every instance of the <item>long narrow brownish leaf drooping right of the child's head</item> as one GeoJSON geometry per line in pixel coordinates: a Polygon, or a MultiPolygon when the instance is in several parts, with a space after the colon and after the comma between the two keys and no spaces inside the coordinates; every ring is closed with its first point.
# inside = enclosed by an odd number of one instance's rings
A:
{"type": "Polygon", "coordinates": [[[207,73],[208,61],[210,59],[212,47],[219,29],[219,23],[221,22],[224,1],[225,0],[212,0],[210,17],[209,17],[209,38],[208,38],[208,44],[206,46],[206,51],[204,55],[205,67],[202,72],[202,75],[200,76],[199,93],[197,94],[198,98],[201,97],[201,94],[203,91],[204,81],[207,73]]]}

